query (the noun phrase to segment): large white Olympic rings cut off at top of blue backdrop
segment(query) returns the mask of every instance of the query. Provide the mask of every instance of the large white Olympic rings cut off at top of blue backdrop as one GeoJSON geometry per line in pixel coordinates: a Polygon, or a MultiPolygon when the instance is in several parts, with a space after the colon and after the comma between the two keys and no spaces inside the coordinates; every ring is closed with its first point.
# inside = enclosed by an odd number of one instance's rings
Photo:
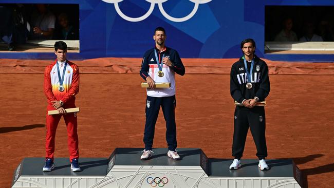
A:
{"type": "Polygon", "coordinates": [[[150,6],[150,9],[144,15],[142,15],[140,17],[129,17],[121,11],[121,9],[118,6],[118,3],[120,3],[124,0],[102,0],[102,1],[105,2],[105,3],[114,4],[116,12],[118,13],[118,15],[121,16],[124,20],[129,21],[129,22],[140,22],[140,21],[145,20],[153,12],[155,4],[158,4],[158,7],[159,7],[159,10],[160,10],[161,14],[165,18],[167,18],[168,20],[170,20],[172,22],[184,22],[184,21],[189,20],[190,18],[192,18],[195,15],[195,13],[197,12],[199,4],[209,3],[212,0],[189,0],[190,2],[194,3],[195,5],[194,5],[193,10],[187,16],[184,16],[184,17],[173,17],[173,16],[169,15],[168,13],[166,13],[166,11],[163,9],[162,3],[164,3],[168,0],[145,0],[146,2],[151,3],[151,6],[150,6]]]}

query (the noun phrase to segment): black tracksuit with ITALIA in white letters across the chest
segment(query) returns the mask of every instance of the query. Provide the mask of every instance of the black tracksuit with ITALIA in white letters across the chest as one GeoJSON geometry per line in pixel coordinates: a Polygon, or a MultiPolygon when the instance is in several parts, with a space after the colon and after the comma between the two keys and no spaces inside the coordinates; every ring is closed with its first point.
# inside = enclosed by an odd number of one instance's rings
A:
{"type": "MultiPolygon", "coordinates": [[[[248,70],[250,70],[251,62],[246,62],[248,70]]],[[[257,97],[259,101],[264,101],[270,91],[268,74],[266,62],[254,55],[254,66],[250,81],[253,87],[247,89],[246,84],[249,81],[247,79],[244,57],[240,58],[231,68],[231,96],[239,103],[242,103],[246,99],[253,99],[254,97],[257,97]]],[[[235,107],[232,156],[236,159],[240,159],[243,156],[248,127],[250,127],[256,145],[256,156],[259,159],[264,159],[268,154],[265,136],[266,116],[263,106],[255,106],[253,108],[244,106],[235,107]]]]}

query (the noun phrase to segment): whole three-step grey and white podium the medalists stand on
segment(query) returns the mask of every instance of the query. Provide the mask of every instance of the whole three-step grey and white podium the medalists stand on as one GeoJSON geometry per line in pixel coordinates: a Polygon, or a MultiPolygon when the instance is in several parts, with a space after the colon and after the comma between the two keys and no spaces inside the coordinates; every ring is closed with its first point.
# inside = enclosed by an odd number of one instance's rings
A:
{"type": "Polygon", "coordinates": [[[142,148],[116,148],[109,158],[80,158],[81,172],[71,172],[68,158],[55,158],[55,168],[43,172],[44,158],[25,158],[16,168],[12,187],[236,187],[297,188],[299,168],[292,160],[242,159],[243,166],[229,170],[233,159],[209,159],[200,148],[178,148],[181,160],[166,156],[167,148],[154,148],[150,160],[140,160],[142,148]]]}

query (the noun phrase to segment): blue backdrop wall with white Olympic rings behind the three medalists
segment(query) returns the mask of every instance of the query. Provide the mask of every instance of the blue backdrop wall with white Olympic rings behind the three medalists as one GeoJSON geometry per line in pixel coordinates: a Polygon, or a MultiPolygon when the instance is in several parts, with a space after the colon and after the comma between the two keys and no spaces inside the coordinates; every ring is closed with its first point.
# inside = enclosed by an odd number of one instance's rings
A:
{"type": "MultiPolygon", "coordinates": [[[[176,49],[181,58],[239,58],[240,42],[251,37],[256,42],[257,56],[270,59],[270,55],[264,54],[265,6],[334,6],[332,0],[0,1],[79,4],[80,53],[68,53],[69,59],[141,58],[146,50],[154,47],[153,31],[158,26],[166,30],[166,46],[176,49]]],[[[0,54],[0,58],[20,57],[53,59],[54,54],[0,54]]]]}

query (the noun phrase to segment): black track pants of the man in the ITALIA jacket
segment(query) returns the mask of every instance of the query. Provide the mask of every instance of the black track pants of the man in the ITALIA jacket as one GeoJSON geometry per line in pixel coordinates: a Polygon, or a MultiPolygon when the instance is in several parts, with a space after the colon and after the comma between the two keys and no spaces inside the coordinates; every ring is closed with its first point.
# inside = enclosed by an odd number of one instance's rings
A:
{"type": "Polygon", "coordinates": [[[266,116],[265,109],[261,106],[255,106],[252,109],[243,106],[235,108],[232,156],[236,159],[243,156],[248,127],[256,145],[256,156],[264,159],[268,155],[265,136],[266,116]]]}

